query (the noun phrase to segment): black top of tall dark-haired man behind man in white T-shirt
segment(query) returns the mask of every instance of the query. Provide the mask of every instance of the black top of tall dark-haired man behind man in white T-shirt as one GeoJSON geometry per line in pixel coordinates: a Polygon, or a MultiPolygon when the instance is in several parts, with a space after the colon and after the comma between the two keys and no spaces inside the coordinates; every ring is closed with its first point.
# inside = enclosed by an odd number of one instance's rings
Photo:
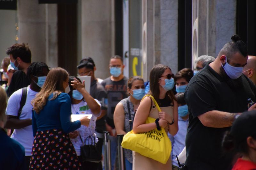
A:
{"type": "Polygon", "coordinates": [[[10,97],[13,92],[30,85],[30,80],[28,79],[27,75],[21,71],[17,70],[12,75],[12,80],[7,90],[7,95],[10,97]]]}

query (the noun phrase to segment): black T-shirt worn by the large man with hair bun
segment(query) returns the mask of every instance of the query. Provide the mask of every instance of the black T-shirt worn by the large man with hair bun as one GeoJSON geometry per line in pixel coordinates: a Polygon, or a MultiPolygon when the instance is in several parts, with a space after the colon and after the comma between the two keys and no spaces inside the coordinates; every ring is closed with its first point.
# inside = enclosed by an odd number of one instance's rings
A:
{"type": "Polygon", "coordinates": [[[185,91],[189,113],[185,165],[189,170],[227,170],[232,167],[232,155],[221,147],[223,135],[230,127],[209,128],[197,116],[212,110],[229,113],[246,111],[247,99],[256,101],[256,87],[244,75],[241,81],[242,87],[232,90],[209,64],[190,80],[185,91]]]}

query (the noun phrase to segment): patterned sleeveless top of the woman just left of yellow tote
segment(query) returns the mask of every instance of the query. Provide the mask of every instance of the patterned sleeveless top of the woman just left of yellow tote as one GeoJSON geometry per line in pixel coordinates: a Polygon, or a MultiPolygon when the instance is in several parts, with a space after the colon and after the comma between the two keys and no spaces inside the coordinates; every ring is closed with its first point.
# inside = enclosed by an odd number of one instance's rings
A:
{"type": "MultiPolygon", "coordinates": [[[[129,124],[129,112],[128,112],[127,100],[128,100],[129,106],[130,106],[130,113],[131,113],[132,120],[134,118],[133,104],[130,100],[130,97],[121,100],[120,103],[122,103],[123,107],[124,107],[124,115],[125,115],[124,131],[126,133],[131,131],[130,124],[129,124]]],[[[124,149],[124,156],[132,164],[132,151],[129,149],[124,149]]]]}

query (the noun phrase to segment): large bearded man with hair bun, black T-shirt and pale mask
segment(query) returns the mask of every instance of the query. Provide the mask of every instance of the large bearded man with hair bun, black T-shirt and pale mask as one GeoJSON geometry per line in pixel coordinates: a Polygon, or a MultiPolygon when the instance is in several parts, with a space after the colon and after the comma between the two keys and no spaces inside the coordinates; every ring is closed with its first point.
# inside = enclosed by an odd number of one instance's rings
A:
{"type": "Polygon", "coordinates": [[[256,87],[243,74],[248,50],[238,35],[231,37],[217,58],[189,82],[185,91],[189,124],[186,137],[189,170],[229,170],[233,155],[223,152],[223,134],[238,115],[256,101],[256,87]]]}

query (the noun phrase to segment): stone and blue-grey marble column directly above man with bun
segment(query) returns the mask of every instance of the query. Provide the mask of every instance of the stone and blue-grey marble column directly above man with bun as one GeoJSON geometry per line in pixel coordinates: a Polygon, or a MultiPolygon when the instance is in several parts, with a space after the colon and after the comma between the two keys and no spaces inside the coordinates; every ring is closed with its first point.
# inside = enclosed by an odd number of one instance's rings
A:
{"type": "Polygon", "coordinates": [[[236,33],[236,0],[199,0],[198,32],[198,56],[217,57],[236,33]]]}

